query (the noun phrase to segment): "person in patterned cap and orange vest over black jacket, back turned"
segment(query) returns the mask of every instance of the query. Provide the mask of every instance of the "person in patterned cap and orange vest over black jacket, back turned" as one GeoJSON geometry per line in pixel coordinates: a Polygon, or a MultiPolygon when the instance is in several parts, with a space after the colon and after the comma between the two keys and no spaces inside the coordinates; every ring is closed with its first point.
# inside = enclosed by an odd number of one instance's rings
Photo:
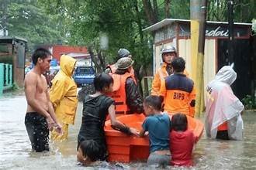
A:
{"type": "Polygon", "coordinates": [[[115,100],[116,114],[140,114],[144,112],[143,100],[131,73],[133,59],[120,58],[116,62],[117,70],[111,76],[114,80],[112,93],[115,100]]]}

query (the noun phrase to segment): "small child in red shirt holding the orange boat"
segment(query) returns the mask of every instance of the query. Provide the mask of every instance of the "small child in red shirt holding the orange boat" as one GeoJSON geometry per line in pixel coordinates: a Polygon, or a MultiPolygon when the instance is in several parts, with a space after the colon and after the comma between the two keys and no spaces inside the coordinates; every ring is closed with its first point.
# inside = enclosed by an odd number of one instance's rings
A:
{"type": "Polygon", "coordinates": [[[170,138],[171,165],[192,166],[192,149],[198,139],[192,130],[188,130],[185,114],[175,114],[171,117],[170,138]]]}

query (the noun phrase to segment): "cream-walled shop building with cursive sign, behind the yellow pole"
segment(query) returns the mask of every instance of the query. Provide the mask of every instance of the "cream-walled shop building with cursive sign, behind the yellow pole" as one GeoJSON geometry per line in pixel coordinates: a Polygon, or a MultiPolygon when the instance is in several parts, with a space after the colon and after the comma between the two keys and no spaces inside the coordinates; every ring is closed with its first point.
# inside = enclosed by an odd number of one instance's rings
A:
{"type": "MultiPolygon", "coordinates": [[[[144,31],[154,32],[154,73],[161,66],[161,49],[175,46],[178,56],[186,61],[186,70],[192,73],[190,20],[164,19],[144,31]]],[[[254,47],[251,38],[251,24],[234,23],[234,70],[237,80],[234,93],[241,99],[254,93],[254,47]]],[[[206,22],[204,85],[213,80],[222,66],[228,65],[228,24],[227,22],[206,22]]]]}

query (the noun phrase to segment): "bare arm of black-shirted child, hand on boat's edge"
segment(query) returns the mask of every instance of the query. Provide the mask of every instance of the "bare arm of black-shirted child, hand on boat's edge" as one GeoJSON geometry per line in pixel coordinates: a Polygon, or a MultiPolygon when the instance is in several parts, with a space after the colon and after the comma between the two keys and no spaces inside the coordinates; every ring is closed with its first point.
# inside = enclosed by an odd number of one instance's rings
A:
{"type": "Polygon", "coordinates": [[[118,128],[120,131],[126,130],[127,133],[138,135],[138,132],[136,129],[129,128],[122,122],[116,120],[116,111],[115,111],[115,106],[113,104],[110,105],[108,110],[109,110],[110,122],[113,128],[118,128]]]}

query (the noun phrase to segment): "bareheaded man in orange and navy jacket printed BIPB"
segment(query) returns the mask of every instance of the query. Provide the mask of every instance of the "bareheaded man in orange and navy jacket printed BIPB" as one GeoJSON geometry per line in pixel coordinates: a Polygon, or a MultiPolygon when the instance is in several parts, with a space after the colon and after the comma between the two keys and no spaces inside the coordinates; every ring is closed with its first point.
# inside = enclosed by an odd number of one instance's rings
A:
{"type": "Polygon", "coordinates": [[[165,79],[160,90],[160,96],[164,98],[164,111],[194,117],[195,87],[193,80],[183,73],[185,60],[182,57],[175,57],[171,61],[171,66],[174,73],[165,79]]]}

